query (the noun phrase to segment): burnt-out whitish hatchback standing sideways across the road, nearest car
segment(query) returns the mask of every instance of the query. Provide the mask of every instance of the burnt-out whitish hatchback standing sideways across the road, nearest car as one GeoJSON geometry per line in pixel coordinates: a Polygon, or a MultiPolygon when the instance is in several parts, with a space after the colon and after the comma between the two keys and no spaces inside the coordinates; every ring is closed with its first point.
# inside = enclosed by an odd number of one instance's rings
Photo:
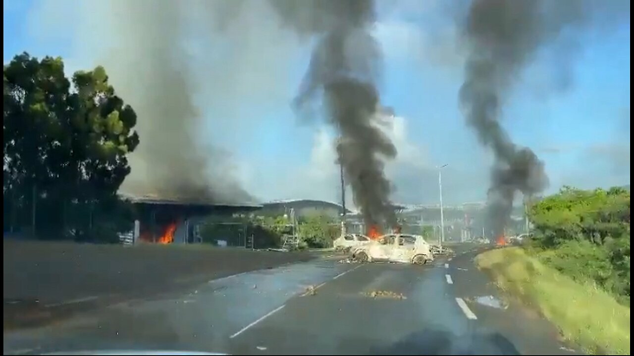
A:
{"type": "Polygon", "coordinates": [[[422,236],[387,234],[366,245],[351,249],[359,262],[389,261],[406,264],[426,264],[434,260],[431,247],[422,236]]]}

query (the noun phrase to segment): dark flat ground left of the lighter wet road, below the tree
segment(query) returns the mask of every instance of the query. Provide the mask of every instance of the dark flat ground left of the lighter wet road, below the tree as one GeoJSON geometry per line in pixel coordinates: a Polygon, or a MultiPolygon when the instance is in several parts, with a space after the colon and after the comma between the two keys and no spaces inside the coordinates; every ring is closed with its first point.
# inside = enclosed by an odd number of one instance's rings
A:
{"type": "Polygon", "coordinates": [[[311,253],[202,245],[126,247],[4,239],[3,246],[5,330],[314,258],[311,253]]]}

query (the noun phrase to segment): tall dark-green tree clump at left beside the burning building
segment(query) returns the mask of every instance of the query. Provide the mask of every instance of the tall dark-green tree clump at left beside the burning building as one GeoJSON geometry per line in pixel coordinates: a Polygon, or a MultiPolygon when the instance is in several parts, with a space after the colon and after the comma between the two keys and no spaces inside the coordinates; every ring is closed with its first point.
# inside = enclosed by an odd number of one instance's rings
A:
{"type": "Polygon", "coordinates": [[[117,219],[95,218],[123,208],[116,192],[139,137],[136,113],[104,68],[69,80],[61,58],[22,53],[4,65],[3,87],[4,230],[30,226],[42,238],[117,230],[117,219]]]}

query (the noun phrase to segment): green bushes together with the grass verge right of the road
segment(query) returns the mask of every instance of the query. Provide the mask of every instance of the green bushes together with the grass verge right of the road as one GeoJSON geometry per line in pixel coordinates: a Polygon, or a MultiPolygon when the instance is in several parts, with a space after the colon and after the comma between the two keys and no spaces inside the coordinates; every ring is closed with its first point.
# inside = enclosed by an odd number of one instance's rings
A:
{"type": "Polygon", "coordinates": [[[630,353],[630,192],[564,188],[529,208],[533,237],[477,264],[591,353],[630,353]]]}

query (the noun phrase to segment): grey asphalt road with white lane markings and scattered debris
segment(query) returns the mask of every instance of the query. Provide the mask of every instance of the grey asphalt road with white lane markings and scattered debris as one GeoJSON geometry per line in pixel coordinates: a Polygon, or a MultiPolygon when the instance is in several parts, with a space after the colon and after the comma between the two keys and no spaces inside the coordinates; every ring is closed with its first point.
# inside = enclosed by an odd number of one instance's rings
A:
{"type": "Polygon", "coordinates": [[[320,258],[210,280],[5,332],[4,353],[574,353],[539,315],[500,302],[477,251],[456,250],[425,266],[320,258]]]}

